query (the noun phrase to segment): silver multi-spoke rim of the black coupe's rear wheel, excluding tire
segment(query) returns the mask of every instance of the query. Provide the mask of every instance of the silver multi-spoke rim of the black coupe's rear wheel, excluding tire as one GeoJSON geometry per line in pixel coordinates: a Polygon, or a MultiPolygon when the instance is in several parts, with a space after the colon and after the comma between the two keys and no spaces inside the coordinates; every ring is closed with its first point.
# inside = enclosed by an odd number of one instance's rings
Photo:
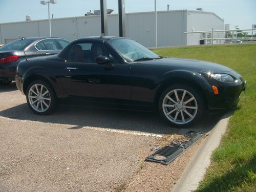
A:
{"type": "Polygon", "coordinates": [[[42,84],[33,84],[28,93],[29,103],[36,112],[45,112],[51,104],[48,89],[42,84]]]}

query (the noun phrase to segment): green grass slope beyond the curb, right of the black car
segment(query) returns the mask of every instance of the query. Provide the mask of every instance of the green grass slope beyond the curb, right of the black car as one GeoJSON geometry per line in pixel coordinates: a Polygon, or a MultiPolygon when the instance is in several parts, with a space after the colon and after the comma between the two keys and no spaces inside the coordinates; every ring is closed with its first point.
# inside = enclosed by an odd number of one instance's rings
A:
{"type": "Polygon", "coordinates": [[[153,50],[230,67],[247,79],[247,92],[230,118],[221,145],[196,191],[256,191],[256,45],[195,46],[153,50]]]}

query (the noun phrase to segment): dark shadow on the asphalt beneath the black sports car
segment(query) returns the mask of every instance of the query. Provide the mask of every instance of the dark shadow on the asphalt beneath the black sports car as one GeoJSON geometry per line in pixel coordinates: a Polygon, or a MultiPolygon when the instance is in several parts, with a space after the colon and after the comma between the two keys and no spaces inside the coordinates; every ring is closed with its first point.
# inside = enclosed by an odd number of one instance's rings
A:
{"type": "MultiPolygon", "coordinates": [[[[116,130],[147,132],[152,134],[178,134],[180,129],[170,127],[157,113],[121,111],[111,109],[92,109],[76,105],[60,105],[59,109],[47,116],[35,115],[27,103],[1,111],[0,115],[11,119],[31,120],[45,123],[71,125],[69,130],[82,129],[85,126],[116,130]]],[[[222,114],[206,114],[190,130],[208,132],[220,120],[222,114]]]]}

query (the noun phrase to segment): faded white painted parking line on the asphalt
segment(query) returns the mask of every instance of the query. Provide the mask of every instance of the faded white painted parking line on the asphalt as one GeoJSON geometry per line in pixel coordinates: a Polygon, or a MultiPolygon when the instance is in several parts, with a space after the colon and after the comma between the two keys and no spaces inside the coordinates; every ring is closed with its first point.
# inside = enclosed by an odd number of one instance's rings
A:
{"type": "MultiPolygon", "coordinates": [[[[9,117],[3,117],[1,115],[0,115],[0,119],[8,119],[8,120],[12,120],[12,121],[21,121],[21,122],[51,123],[51,122],[38,122],[38,121],[32,121],[32,120],[12,119],[9,117]]],[[[61,124],[61,123],[51,123],[51,124],[66,126],[66,127],[69,127],[69,129],[77,126],[74,124],[73,125],[72,124],[61,124]]],[[[82,127],[79,127],[79,129],[88,129],[88,130],[95,130],[95,131],[105,131],[105,132],[121,133],[121,134],[127,134],[127,135],[137,135],[137,136],[147,136],[147,137],[159,137],[159,138],[163,137],[163,135],[159,135],[159,134],[152,134],[152,133],[147,133],[147,132],[116,130],[116,129],[109,129],[109,128],[103,128],[103,127],[82,126],[82,127]]]]}

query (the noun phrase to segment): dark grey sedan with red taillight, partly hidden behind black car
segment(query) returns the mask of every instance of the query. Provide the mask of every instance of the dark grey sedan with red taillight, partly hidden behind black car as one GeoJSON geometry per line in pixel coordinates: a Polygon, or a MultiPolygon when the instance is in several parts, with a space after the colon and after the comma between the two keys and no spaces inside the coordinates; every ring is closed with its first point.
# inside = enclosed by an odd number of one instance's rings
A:
{"type": "Polygon", "coordinates": [[[15,80],[19,61],[27,58],[57,54],[69,44],[62,38],[30,37],[14,40],[0,47],[0,84],[7,85],[15,80]]]}

